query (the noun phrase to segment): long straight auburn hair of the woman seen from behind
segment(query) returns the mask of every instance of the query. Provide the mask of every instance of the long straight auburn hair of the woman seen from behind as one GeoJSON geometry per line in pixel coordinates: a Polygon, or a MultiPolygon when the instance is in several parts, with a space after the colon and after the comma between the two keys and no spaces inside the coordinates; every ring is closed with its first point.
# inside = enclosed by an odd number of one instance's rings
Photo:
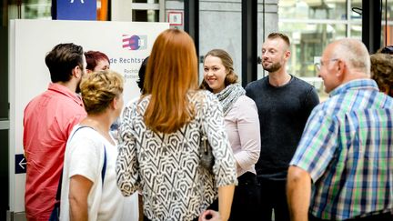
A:
{"type": "Polygon", "coordinates": [[[151,95],[145,124],[162,133],[176,132],[194,117],[187,93],[197,88],[196,48],[186,32],[167,29],[156,38],[146,68],[144,89],[151,95]]]}

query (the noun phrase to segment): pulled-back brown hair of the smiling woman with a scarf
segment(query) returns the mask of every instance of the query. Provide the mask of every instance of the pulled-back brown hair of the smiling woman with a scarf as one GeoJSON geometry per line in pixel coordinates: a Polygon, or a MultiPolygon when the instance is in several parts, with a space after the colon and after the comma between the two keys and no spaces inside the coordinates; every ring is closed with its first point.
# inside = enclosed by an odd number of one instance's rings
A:
{"type": "MultiPolygon", "coordinates": [[[[226,75],[226,78],[224,80],[224,85],[226,87],[227,87],[227,85],[232,85],[232,84],[237,83],[237,74],[234,71],[232,57],[226,51],[224,51],[222,49],[213,49],[213,50],[207,52],[207,54],[204,57],[204,63],[205,63],[205,60],[206,60],[208,55],[210,55],[210,56],[217,56],[221,60],[221,63],[226,68],[227,75],[226,75]]],[[[202,84],[200,85],[200,88],[201,89],[206,89],[206,90],[209,90],[209,91],[213,91],[212,88],[210,88],[210,86],[207,85],[207,82],[205,81],[205,79],[202,81],[202,84]]]]}

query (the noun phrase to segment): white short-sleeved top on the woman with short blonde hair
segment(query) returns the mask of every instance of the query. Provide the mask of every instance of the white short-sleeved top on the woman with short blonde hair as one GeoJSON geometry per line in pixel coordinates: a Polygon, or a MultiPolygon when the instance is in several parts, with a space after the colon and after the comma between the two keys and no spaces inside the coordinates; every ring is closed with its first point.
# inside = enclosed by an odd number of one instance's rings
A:
{"type": "Polygon", "coordinates": [[[74,126],[65,147],[60,220],[70,219],[69,181],[72,176],[76,175],[85,176],[93,182],[87,196],[88,220],[137,220],[137,196],[126,198],[116,186],[117,147],[90,127],[81,128],[74,135],[78,127],[80,126],[74,126]],[[106,148],[106,175],[103,186],[101,172],[104,166],[104,146],[106,148]],[[130,212],[134,214],[131,215],[130,212]],[[136,217],[131,218],[131,216],[136,217]]]}

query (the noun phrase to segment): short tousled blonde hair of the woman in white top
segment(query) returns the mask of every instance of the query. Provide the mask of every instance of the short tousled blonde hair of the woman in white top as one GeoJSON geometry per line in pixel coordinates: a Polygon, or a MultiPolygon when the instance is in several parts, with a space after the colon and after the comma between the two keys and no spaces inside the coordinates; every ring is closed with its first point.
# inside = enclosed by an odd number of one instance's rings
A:
{"type": "Polygon", "coordinates": [[[111,70],[84,75],[80,88],[87,114],[103,113],[123,93],[123,85],[123,76],[111,70]]]}

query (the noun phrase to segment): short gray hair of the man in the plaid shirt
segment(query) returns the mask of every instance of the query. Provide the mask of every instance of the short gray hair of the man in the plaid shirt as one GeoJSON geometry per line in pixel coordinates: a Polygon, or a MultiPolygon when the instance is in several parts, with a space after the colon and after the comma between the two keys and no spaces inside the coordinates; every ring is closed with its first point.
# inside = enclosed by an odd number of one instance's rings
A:
{"type": "Polygon", "coordinates": [[[368,49],[358,39],[344,38],[336,42],[334,56],[346,62],[349,67],[370,75],[368,49]]]}

